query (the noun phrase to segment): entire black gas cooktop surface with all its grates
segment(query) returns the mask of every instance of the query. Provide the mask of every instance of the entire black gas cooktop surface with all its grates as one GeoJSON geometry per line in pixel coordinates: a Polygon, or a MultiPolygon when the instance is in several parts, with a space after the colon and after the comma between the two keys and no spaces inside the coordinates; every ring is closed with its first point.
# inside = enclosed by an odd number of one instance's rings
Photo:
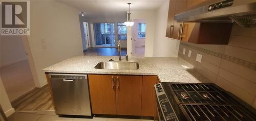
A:
{"type": "Polygon", "coordinates": [[[254,114],[214,84],[170,83],[168,87],[187,120],[255,120],[254,114]]]}

